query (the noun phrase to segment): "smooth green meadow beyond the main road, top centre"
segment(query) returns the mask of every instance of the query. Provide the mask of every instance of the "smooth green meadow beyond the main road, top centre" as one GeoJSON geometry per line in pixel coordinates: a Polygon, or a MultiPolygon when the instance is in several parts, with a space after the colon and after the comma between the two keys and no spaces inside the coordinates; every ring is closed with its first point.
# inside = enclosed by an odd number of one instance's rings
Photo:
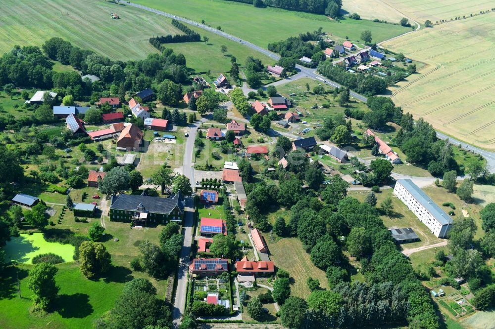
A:
{"type": "Polygon", "coordinates": [[[342,19],[337,22],[324,15],[270,7],[255,8],[251,4],[222,0],[137,0],[134,2],[197,22],[204,20],[205,24],[211,27],[220,26],[222,31],[264,48],[269,42],[314,31],[319,27],[342,39],[347,36],[352,41],[359,40],[363,30],[370,30],[375,42],[410,31],[410,28],[399,25],[352,19],[342,19]]]}

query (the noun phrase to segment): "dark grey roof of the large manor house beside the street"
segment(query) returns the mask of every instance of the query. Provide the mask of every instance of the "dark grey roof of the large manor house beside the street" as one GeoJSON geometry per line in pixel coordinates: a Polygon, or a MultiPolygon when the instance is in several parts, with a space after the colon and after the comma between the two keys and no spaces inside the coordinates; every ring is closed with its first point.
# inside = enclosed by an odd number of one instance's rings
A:
{"type": "Polygon", "coordinates": [[[170,214],[178,206],[184,212],[184,199],[181,191],[171,198],[148,197],[145,193],[141,195],[119,194],[112,196],[110,209],[134,211],[140,204],[149,212],[170,214]]]}

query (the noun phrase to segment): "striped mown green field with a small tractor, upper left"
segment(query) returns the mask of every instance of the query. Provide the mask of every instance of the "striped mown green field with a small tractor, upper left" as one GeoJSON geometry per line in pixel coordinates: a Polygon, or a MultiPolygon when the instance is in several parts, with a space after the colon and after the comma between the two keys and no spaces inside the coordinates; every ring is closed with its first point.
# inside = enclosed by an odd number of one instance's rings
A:
{"type": "Polygon", "coordinates": [[[181,33],[170,19],[125,5],[87,0],[3,0],[0,53],[15,44],[38,45],[60,37],[114,60],[143,59],[157,50],[153,35],[181,33]],[[120,19],[113,20],[111,12],[120,19]]]}

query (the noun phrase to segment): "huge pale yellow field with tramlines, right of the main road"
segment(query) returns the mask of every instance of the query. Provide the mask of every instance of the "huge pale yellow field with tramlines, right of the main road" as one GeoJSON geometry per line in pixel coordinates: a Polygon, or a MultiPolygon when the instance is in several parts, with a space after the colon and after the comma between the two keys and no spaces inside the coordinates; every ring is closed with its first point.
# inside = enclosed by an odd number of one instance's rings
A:
{"type": "Polygon", "coordinates": [[[392,88],[404,112],[461,141],[495,149],[495,12],[423,29],[383,46],[426,64],[392,88]]]}

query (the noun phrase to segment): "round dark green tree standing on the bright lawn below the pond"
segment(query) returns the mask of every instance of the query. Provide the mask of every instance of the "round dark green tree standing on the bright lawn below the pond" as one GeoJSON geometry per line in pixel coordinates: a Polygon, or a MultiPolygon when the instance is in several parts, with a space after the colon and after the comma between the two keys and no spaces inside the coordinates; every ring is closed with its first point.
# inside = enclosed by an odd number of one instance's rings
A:
{"type": "Polygon", "coordinates": [[[56,298],[59,287],[55,284],[58,272],[53,264],[39,263],[29,271],[28,288],[33,291],[34,306],[46,309],[56,298]]]}

